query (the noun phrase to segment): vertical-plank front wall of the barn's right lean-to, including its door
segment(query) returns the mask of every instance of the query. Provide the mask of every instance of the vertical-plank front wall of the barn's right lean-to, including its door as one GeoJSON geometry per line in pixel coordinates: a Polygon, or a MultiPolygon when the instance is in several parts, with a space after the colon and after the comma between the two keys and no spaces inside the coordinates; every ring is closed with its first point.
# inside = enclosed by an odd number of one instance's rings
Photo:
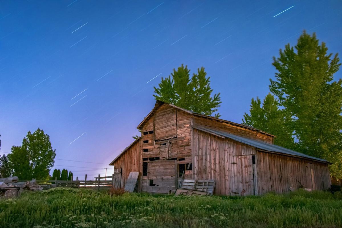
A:
{"type": "Polygon", "coordinates": [[[193,178],[215,179],[216,195],[254,195],[254,147],[193,129],[193,178]]]}

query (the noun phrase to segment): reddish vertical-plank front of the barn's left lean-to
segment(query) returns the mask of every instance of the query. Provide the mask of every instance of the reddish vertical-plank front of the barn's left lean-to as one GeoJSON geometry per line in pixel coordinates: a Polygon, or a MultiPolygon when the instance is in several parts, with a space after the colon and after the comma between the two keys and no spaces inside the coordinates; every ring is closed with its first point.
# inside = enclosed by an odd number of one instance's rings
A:
{"type": "Polygon", "coordinates": [[[128,148],[114,162],[114,166],[115,168],[122,169],[120,187],[124,188],[130,172],[142,172],[141,139],[137,140],[130,148],[128,148]]]}

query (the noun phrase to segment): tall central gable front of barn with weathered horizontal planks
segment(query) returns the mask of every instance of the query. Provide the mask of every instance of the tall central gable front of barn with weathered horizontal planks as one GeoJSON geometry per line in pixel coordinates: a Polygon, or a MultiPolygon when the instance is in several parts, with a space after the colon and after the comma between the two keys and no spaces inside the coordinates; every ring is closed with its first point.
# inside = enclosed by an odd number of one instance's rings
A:
{"type": "MultiPolygon", "coordinates": [[[[167,104],[161,105],[155,114],[143,125],[142,158],[160,158],[157,161],[148,161],[148,172],[150,172],[151,164],[163,164],[164,161],[166,162],[161,166],[157,166],[160,169],[159,173],[161,176],[153,179],[154,182],[158,182],[160,178],[165,180],[170,178],[168,175],[162,176],[164,175],[163,168],[172,169],[174,173],[177,172],[177,178],[180,179],[178,166],[175,167],[174,160],[168,159],[176,159],[177,165],[192,162],[191,131],[191,115],[167,104]],[[147,134],[147,132],[151,131],[153,133],[147,134]],[[144,149],[148,151],[144,151],[144,149]],[[184,160],[179,161],[179,159],[183,158],[184,160]]],[[[154,166],[152,167],[157,169],[154,166]]],[[[154,178],[154,176],[152,177],[154,178]]],[[[187,170],[184,178],[192,178],[192,170],[187,170]]],[[[155,192],[157,186],[149,188],[149,179],[147,176],[142,177],[142,191],[155,192]]],[[[166,189],[171,190],[174,187],[175,184],[170,185],[170,183],[166,182],[163,184],[163,190],[160,191],[166,192],[166,189]]]]}

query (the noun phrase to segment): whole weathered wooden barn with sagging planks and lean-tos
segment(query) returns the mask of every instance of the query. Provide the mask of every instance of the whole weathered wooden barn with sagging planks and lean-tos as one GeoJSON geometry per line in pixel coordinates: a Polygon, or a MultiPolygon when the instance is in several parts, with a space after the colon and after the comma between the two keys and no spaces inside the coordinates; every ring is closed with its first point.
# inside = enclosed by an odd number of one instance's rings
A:
{"type": "Polygon", "coordinates": [[[182,179],[214,179],[216,195],[326,190],[328,162],[273,144],[274,135],[161,101],[137,126],[141,137],[114,166],[116,186],[139,172],[137,191],[174,192],[182,179]],[[183,175],[183,176],[182,176],[183,175]]]}

